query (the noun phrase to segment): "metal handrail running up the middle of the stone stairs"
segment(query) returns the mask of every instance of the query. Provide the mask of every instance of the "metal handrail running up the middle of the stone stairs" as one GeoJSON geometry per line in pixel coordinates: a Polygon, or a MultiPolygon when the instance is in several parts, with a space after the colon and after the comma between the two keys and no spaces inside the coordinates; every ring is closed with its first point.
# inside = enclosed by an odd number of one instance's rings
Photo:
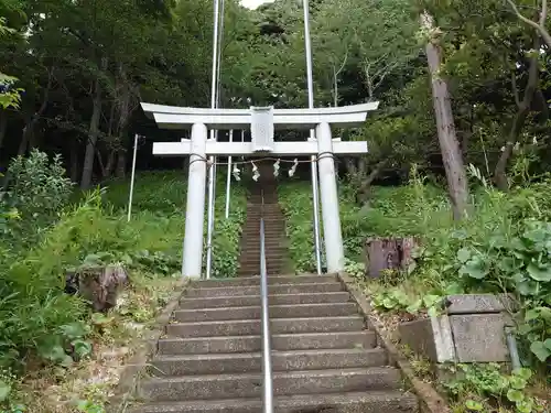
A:
{"type": "Polygon", "coordinates": [[[262,205],[260,215],[260,297],[262,306],[262,374],[263,413],[273,413],[272,360],[270,345],[270,316],[268,307],[268,271],[266,268],[264,241],[264,191],[261,189],[262,205]]]}

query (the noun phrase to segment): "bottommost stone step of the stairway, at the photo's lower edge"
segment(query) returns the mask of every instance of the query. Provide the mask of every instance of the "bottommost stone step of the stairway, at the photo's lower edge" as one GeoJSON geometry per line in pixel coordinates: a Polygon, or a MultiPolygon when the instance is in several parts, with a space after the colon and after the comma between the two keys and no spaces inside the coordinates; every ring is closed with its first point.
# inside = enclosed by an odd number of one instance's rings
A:
{"type": "MultiPolygon", "coordinates": [[[[419,402],[409,392],[369,391],[296,394],[273,400],[274,413],[418,413],[419,402]]],[[[261,398],[201,400],[149,404],[131,413],[258,413],[261,398]]]]}

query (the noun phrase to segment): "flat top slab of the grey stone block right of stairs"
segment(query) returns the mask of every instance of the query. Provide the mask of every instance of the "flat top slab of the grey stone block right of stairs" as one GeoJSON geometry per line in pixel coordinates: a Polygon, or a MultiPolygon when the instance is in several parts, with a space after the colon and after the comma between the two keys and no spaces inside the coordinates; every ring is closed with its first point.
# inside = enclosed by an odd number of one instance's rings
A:
{"type": "Polygon", "coordinates": [[[447,314],[501,313],[515,309],[514,298],[507,294],[457,294],[446,296],[447,314]]]}

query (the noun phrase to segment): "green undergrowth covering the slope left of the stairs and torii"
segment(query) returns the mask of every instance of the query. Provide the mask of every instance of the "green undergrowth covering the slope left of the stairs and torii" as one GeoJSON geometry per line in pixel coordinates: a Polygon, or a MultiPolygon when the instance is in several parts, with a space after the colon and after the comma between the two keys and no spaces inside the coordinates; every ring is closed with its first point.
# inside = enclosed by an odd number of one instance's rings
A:
{"type": "MultiPolygon", "coordinates": [[[[60,165],[57,157],[52,163],[37,152],[17,160],[11,171],[13,184],[0,197],[1,413],[25,410],[17,389],[29,369],[67,369],[94,351],[95,340],[109,340],[118,329],[112,317],[91,314],[80,297],[64,292],[68,271],[120,263],[130,270],[131,289],[139,282],[148,294],[154,293],[148,285],[155,280],[180,276],[185,182],[170,174],[140,176],[141,185],[137,184],[134,193],[138,203],[128,222],[122,202],[128,183],[82,194],[77,204],[69,205],[72,185],[60,165]],[[33,175],[33,169],[39,176],[33,175]],[[32,231],[34,219],[40,226],[32,231]],[[24,242],[7,242],[14,233],[23,235],[24,242]]],[[[238,185],[233,188],[227,220],[223,197],[216,204],[213,273],[233,276],[246,196],[238,185]]],[[[150,319],[153,309],[132,303],[118,308],[134,323],[150,319]]],[[[77,411],[104,411],[91,399],[77,404],[77,411]]]]}

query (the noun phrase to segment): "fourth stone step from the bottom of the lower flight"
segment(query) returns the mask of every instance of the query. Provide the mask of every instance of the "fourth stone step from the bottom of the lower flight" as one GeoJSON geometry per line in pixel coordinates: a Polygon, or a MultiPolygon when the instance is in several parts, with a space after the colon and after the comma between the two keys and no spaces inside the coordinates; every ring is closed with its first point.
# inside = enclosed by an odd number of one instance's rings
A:
{"type": "MultiPolygon", "coordinates": [[[[374,332],[336,332],[272,334],[272,349],[279,351],[307,349],[352,349],[374,348],[377,337],[374,332]]],[[[206,355],[261,351],[260,336],[222,336],[162,338],[159,340],[160,355],[206,355]]]]}

